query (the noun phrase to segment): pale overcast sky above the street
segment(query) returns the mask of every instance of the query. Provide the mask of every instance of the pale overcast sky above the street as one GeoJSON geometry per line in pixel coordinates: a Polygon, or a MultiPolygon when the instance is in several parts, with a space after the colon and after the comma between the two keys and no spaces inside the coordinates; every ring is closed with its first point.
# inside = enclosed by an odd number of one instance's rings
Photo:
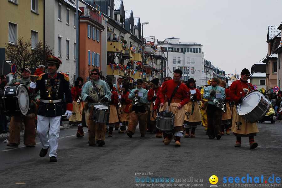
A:
{"type": "MultiPolygon", "coordinates": [[[[267,55],[268,26],[282,22],[282,0],[123,0],[144,25],[144,36],[202,44],[205,59],[226,74],[267,55]]],[[[236,72],[236,73],[238,73],[236,72]]]]}

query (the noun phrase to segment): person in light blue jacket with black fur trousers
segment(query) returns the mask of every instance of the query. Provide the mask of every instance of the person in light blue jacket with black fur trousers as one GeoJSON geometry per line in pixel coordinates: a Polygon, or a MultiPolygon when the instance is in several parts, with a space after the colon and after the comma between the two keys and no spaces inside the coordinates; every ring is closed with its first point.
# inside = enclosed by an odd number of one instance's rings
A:
{"type": "Polygon", "coordinates": [[[219,85],[217,78],[212,78],[211,86],[204,88],[204,98],[208,99],[206,115],[208,136],[210,139],[221,138],[222,101],[225,99],[225,89],[219,85]]]}

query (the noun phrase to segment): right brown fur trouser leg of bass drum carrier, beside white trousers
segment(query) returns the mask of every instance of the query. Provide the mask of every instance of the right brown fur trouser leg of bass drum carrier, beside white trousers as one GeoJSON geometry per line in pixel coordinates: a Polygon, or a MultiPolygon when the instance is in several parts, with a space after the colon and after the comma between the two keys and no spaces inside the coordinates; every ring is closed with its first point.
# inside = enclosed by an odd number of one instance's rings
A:
{"type": "Polygon", "coordinates": [[[28,114],[24,117],[24,145],[35,146],[35,114],[28,114]]]}

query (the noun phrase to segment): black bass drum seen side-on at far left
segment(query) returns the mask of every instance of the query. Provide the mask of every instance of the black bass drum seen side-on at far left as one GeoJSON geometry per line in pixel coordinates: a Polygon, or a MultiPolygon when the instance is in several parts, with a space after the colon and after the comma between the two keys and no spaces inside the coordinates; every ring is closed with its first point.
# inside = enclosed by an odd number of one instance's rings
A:
{"type": "Polygon", "coordinates": [[[27,115],[30,107],[29,91],[24,85],[6,86],[2,97],[3,109],[7,116],[27,115]]]}

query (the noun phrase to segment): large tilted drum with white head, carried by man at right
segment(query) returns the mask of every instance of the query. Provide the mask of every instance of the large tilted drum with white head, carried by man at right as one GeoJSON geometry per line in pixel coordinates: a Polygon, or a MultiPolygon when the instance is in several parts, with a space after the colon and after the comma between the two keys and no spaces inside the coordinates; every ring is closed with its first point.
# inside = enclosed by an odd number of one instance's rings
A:
{"type": "Polygon", "coordinates": [[[253,90],[243,97],[243,102],[237,106],[237,113],[248,123],[255,123],[269,111],[270,101],[258,91],[253,90]]]}

